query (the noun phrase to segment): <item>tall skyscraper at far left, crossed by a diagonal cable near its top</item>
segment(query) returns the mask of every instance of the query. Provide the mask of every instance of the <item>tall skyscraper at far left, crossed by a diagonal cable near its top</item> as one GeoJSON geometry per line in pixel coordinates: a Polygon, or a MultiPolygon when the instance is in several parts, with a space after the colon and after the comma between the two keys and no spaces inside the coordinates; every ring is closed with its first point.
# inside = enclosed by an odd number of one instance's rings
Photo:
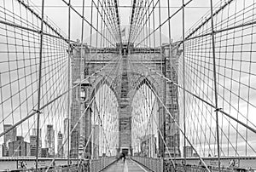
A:
{"type": "MultiPolygon", "coordinates": [[[[3,130],[7,131],[12,126],[13,125],[11,125],[11,124],[4,124],[3,130]]],[[[3,157],[9,156],[9,142],[16,140],[16,137],[17,137],[17,129],[16,128],[10,130],[7,134],[5,134],[3,136],[3,157]]],[[[14,150],[12,150],[12,151],[14,151],[14,150]]]]}

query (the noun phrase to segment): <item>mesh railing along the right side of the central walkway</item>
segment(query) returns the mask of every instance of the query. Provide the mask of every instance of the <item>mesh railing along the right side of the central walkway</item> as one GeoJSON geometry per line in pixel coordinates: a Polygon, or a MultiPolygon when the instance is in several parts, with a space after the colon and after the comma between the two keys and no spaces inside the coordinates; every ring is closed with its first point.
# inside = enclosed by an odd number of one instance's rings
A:
{"type": "Polygon", "coordinates": [[[162,172],[164,167],[163,158],[147,158],[147,157],[131,157],[137,163],[143,164],[148,169],[154,172],[162,172]]]}

